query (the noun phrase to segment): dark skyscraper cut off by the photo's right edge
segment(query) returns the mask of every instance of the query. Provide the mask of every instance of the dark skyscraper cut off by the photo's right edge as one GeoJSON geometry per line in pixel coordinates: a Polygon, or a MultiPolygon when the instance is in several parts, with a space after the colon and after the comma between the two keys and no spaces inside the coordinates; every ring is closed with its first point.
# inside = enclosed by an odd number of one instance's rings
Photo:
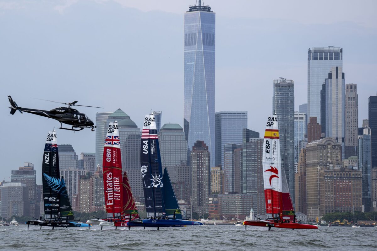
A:
{"type": "Polygon", "coordinates": [[[372,130],[372,168],[377,166],[377,96],[368,100],[368,124],[372,130]]]}

